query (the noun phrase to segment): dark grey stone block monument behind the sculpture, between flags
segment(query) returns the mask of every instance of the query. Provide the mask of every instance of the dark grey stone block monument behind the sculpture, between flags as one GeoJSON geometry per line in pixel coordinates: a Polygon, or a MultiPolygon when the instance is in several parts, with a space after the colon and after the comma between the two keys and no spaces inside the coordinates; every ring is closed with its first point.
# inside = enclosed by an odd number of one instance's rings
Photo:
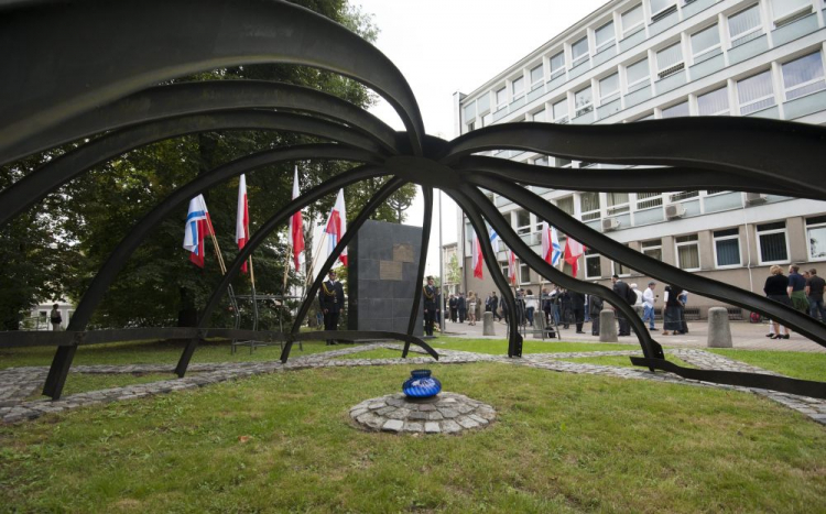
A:
{"type": "MultiPolygon", "coordinates": [[[[348,247],[348,329],[406,332],[416,283],[422,228],[366,221],[348,247]]],[[[423,335],[420,304],[414,336],[423,335]]]]}

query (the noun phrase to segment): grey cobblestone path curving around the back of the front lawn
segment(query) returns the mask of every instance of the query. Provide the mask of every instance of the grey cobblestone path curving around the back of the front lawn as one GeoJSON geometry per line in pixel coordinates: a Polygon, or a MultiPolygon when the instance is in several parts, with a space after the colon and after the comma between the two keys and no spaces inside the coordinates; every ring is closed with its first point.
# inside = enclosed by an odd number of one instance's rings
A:
{"type": "MultiPolygon", "coordinates": [[[[335,367],[363,367],[363,365],[393,365],[393,364],[433,364],[430,357],[411,357],[409,359],[340,359],[341,357],[372,350],[377,347],[392,350],[401,350],[396,343],[374,343],[355,346],[316,353],[306,357],[291,359],[286,364],[280,361],[269,362],[240,362],[240,363],[209,363],[193,364],[189,373],[183,379],[164,380],[148,384],[127,385],[102,391],[91,391],[64,396],[58,401],[26,400],[35,394],[45,381],[48,369],[46,367],[10,368],[0,370],[0,419],[4,423],[35,419],[44,414],[61,413],[86,405],[96,405],[121,400],[133,400],[143,396],[171,393],[173,391],[192,390],[205,385],[215,384],[228,380],[237,380],[262,373],[275,373],[290,370],[304,370],[313,368],[335,367]]],[[[441,364],[463,364],[470,362],[500,362],[514,365],[526,365],[556,372],[598,374],[631,380],[651,380],[676,384],[695,386],[718,387],[736,391],[751,392],[765,396],[770,400],[793,408],[812,419],[826,425],[826,401],[796,396],[792,394],[778,393],[773,391],[737,387],[730,385],[711,384],[686,380],[667,372],[652,373],[646,369],[621,368],[610,365],[596,365],[583,362],[562,361],[559,359],[574,359],[604,356],[639,356],[639,351],[591,351],[591,352],[567,352],[567,353],[529,353],[522,359],[509,359],[504,356],[491,356],[457,350],[438,350],[441,364]]],[[[423,351],[411,348],[413,354],[424,354],[423,351]]],[[[760,368],[754,368],[741,362],[733,361],[716,353],[699,349],[670,349],[667,354],[677,357],[683,361],[700,369],[716,369],[727,371],[746,371],[754,373],[770,373],[760,368]]],[[[78,365],[72,369],[73,373],[172,373],[171,364],[132,364],[132,365],[78,365]]]]}

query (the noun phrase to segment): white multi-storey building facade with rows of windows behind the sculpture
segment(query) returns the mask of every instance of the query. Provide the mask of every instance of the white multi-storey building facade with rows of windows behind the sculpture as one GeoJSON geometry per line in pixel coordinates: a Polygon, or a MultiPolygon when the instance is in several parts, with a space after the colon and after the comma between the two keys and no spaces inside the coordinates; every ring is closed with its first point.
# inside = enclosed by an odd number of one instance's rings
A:
{"type": "MultiPolygon", "coordinates": [[[[458,135],[493,123],[627,123],[686,116],[826,124],[825,21],[824,0],[610,1],[475,91],[457,92],[455,130],[458,135]]],[[[486,155],[542,166],[626,167],[521,151],[486,155]]],[[[826,273],[823,201],[727,190],[530,189],[634,250],[757,294],[772,264],[798,263],[806,270],[819,264],[820,275],[826,273]]],[[[542,220],[494,192],[488,196],[539,252],[542,220]]],[[[472,229],[463,215],[457,223],[464,287],[492,289],[489,273],[483,281],[472,277],[472,229]]],[[[504,252],[498,258],[507,272],[504,252]]],[[[579,278],[607,284],[616,273],[640,288],[649,282],[610,255],[586,252],[580,259],[579,278]]],[[[533,270],[519,267],[522,287],[540,287],[533,270]]],[[[700,316],[713,305],[720,303],[689,300],[700,316]]]]}

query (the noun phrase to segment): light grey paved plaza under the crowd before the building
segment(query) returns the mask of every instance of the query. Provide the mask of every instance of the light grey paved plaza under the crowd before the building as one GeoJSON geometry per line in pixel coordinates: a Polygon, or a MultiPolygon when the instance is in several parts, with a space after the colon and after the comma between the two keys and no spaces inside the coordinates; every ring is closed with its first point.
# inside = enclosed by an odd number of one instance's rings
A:
{"type": "MultiPolygon", "coordinates": [[[[482,322],[478,321],[476,326],[447,321],[445,326],[445,336],[465,337],[472,339],[504,339],[507,328],[504,322],[493,321],[496,336],[482,336],[482,322]]],[[[575,333],[574,325],[569,329],[562,329],[562,340],[570,342],[599,342],[598,336],[590,335],[590,322],[583,327],[585,333],[575,333]]],[[[808,351],[826,353],[826,348],[806,339],[798,333],[792,333],[790,339],[774,340],[769,339],[768,324],[750,324],[747,321],[731,321],[731,340],[733,348],[740,350],[780,350],[780,351],[808,351]]],[[[662,325],[657,321],[657,330],[652,332],[654,340],[663,347],[671,348],[706,348],[708,341],[708,325],[706,321],[693,321],[688,324],[688,333],[684,336],[663,336],[662,325]]],[[[534,340],[531,333],[531,327],[528,327],[525,341],[534,340]]],[[[541,340],[541,339],[536,339],[541,340]]],[[[550,339],[545,339],[550,340],[550,339]]],[[[557,339],[558,340],[558,339],[557,339]]],[[[621,337],[619,342],[635,343],[637,337],[621,337]]]]}

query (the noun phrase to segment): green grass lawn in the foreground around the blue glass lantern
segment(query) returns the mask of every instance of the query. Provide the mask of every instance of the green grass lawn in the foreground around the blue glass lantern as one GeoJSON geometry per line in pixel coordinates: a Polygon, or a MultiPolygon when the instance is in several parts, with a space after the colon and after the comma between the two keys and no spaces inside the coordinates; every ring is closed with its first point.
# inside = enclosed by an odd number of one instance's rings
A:
{"type": "Polygon", "coordinates": [[[365,433],[413,367],[273,373],[0,426],[10,512],[824,512],[826,429],[708,387],[434,364],[498,420],[365,433]]]}

